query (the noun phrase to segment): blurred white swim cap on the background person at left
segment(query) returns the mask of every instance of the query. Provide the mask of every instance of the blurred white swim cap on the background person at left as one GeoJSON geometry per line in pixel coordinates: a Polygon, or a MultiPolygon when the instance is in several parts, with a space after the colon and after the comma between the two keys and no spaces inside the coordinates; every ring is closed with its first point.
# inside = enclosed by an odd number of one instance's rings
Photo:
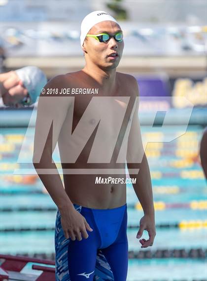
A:
{"type": "Polygon", "coordinates": [[[35,103],[41,89],[47,83],[45,74],[36,66],[26,66],[15,70],[15,72],[27,88],[31,97],[31,104],[35,103]]]}

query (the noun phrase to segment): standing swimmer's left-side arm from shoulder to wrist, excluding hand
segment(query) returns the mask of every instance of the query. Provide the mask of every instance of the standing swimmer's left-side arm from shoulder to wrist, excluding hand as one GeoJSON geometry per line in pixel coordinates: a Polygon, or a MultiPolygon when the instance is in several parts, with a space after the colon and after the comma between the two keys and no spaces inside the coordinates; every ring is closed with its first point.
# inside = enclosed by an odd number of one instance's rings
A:
{"type": "MultiPolygon", "coordinates": [[[[62,76],[50,80],[44,87],[45,91],[49,88],[61,90],[63,85],[61,80],[62,76]]],[[[52,154],[70,105],[70,97],[41,94],[38,100],[35,123],[33,164],[39,178],[60,211],[72,208],[73,205],[64,189],[52,154]]]]}

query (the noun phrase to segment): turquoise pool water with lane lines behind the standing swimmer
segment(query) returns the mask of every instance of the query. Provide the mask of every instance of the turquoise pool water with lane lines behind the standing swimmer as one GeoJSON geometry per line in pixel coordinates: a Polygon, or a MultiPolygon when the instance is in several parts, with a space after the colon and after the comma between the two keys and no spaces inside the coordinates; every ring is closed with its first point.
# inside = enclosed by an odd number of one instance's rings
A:
{"type": "MultiPolygon", "coordinates": [[[[176,135],[182,127],[169,126],[166,134],[176,135]]],[[[207,184],[199,161],[195,160],[203,128],[189,126],[186,134],[171,142],[162,143],[163,134],[158,130],[158,139],[161,142],[149,145],[146,154],[150,166],[154,201],[168,203],[190,203],[192,201],[207,200],[207,184]],[[180,156],[179,156],[180,155],[180,156]],[[179,162],[182,161],[182,162],[179,162]],[[185,173],[183,171],[190,173],[185,173]],[[195,171],[193,174],[192,172],[195,171]],[[171,189],[173,188],[173,189],[171,189]]],[[[142,140],[149,137],[152,132],[147,126],[142,126],[142,140]]],[[[22,184],[15,180],[11,163],[18,161],[19,150],[27,132],[26,128],[1,129],[1,197],[0,209],[19,207],[53,207],[56,208],[48,194],[41,194],[44,187],[37,178],[34,184],[22,184]],[[8,180],[8,176],[11,181],[8,180]],[[32,194],[38,191],[39,194],[32,194]]],[[[153,131],[154,134],[155,131],[153,131]]],[[[27,135],[24,159],[32,155],[32,130],[27,135]]],[[[55,152],[54,159],[59,156],[55,152]]],[[[21,162],[19,163],[21,167],[21,162]]],[[[23,175],[24,177],[24,175],[23,175]]],[[[128,225],[138,226],[143,216],[142,210],[133,206],[138,202],[132,185],[127,186],[128,225]]],[[[0,249],[1,253],[54,253],[54,230],[35,231],[35,228],[55,227],[56,210],[51,211],[2,211],[0,214],[0,249]],[[5,231],[9,228],[32,228],[31,231],[5,231]],[[4,230],[4,231],[2,231],[4,230]]],[[[171,207],[155,211],[156,225],[175,224],[183,220],[207,220],[207,209],[193,209],[191,207],[171,207]]],[[[130,251],[156,251],[157,249],[192,248],[207,249],[207,228],[157,228],[156,237],[152,247],[140,248],[136,239],[138,227],[127,230],[130,251]]],[[[147,239],[144,231],[143,238],[147,239]]],[[[130,259],[128,281],[153,280],[189,280],[207,278],[207,263],[205,259],[193,258],[163,258],[163,259],[130,259]],[[153,273],[153,274],[152,274],[153,273]]]]}

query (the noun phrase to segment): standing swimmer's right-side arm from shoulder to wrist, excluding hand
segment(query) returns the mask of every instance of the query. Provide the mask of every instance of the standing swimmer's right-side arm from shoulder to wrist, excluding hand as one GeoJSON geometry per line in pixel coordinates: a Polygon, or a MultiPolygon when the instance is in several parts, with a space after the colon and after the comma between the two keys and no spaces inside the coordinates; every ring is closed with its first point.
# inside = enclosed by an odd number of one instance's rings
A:
{"type": "Polygon", "coordinates": [[[136,178],[136,183],[133,184],[135,193],[143,208],[144,214],[154,217],[154,204],[152,194],[152,183],[148,161],[144,152],[141,139],[140,123],[138,119],[139,93],[138,83],[133,77],[132,81],[136,91],[137,102],[135,112],[132,119],[132,125],[128,138],[127,147],[127,167],[131,178],[136,178]],[[133,174],[130,169],[139,169],[138,173],[133,174]]]}

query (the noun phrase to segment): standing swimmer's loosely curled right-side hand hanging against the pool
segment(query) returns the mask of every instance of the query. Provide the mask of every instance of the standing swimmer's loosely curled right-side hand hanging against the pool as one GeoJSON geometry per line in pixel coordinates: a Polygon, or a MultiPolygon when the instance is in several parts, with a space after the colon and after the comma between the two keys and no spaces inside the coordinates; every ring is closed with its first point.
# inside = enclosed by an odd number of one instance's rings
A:
{"type": "Polygon", "coordinates": [[[150,215],[145,214],[140,219],[137,238],[141,238],[144,230],[146,230],[148,232],[149,239],[145,240],[143,238],[143,239],[139,240],[139,242],[141,243],[141,248],[147,248],[148,246],[152,246],[153,245],[153,242],[154,242],[154,239],[155,239],[155,235],[156,235],[154,216],[150,216],[150,215]]]}

